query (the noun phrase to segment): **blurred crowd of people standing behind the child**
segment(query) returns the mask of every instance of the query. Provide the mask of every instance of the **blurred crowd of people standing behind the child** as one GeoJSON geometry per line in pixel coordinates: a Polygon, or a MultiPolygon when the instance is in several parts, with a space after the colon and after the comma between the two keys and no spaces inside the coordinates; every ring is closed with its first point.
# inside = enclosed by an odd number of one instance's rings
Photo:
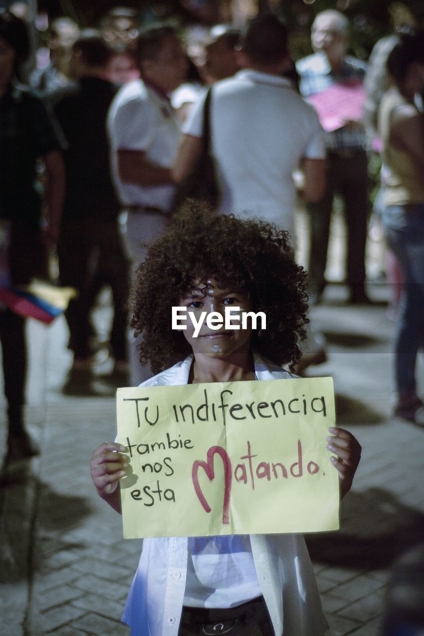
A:
{"type": "MultiPolygon", "coordinates": [[[[370,215],[384,228],[397,315],[393,409],[424,423],[414,371],[424,306],[423,15],[406,12],[367,62],[349,54],[350,24],[336,10],[316,15],[311,54],[293,60],[290,33],[271,14],[243,29],[180,32],[145,27],[127,7],[89,29],[45,14],[28,24],[25,8],[17,2],[0,13],[1,284],[51,278],[54,254],[54,282],[76,289],[66,310],[73,365],[64,391],[83,394],[90,386],[90,315],[104,286],[113,304],[110,379],[134,385],[150,377],[138,360],[142,335],[134,338],[128,326],[129,293],[146,245],[164,231],[181,196],[272,221],[290,233],[293,248],[295,209],[304,205],[310,303],[325,293],[338,197],[346,302],[372,303],[370,215]],[[190,178],[204,156],[213,184],[199,194],[190,178]],[[374,209],[372,156],[382,164],[374,209]]],[[[9,459],[37,452],[22,417],[24,338],[24,318],[4,305],[9,459]]],[[[312,325],[296,371],[326,357],[312,325]]]]}

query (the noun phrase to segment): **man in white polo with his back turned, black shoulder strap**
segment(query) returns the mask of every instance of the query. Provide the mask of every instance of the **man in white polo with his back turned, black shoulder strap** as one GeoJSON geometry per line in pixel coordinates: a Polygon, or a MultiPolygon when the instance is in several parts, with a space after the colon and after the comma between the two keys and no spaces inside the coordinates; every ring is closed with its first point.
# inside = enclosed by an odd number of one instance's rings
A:
{"type": "MultiPolygon", "coordinates": [[[[315,109],[283,73],[292,67],[285,25],[274,15],[253,18],[241,34],[241,71],[211,89],[211,155],[222,214],[264,218],[286,230],[294,244],[296,187],[318,201],[325,188],[325,142],[315,109]]],[[[185,125],[173,175],[186,177],[202,149],[204,99],[185,125]]],[[[322,338],[308,334],[297,372],[327,360],[322,338]]]]}

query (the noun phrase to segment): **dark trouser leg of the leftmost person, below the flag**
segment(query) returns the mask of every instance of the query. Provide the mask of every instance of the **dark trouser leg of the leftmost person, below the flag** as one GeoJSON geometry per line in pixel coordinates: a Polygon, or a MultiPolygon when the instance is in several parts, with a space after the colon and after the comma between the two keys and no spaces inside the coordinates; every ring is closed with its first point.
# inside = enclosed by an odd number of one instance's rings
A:
{"type": "Polygon", "coordinates": [[[0,311],[0,342],[3,354],[4,395],[8,403],[9,434],[22,434],[27,350],[25,319],[10,309],[0,311]]]}

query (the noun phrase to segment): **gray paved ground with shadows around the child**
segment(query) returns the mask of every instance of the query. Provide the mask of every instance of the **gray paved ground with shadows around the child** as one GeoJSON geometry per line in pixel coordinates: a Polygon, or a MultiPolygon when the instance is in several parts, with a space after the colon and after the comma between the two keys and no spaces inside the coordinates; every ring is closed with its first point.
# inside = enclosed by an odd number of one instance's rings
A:
{"type": "MultiPolygon", "coordinates": [[[[424,431],[389,415],[393,322],[384,303],[349,307],[344,291],[331,286],[313,310],[329,361],[309,375],[334,377],[338,423],[363,457],[341,530],[308,543],[334,635],[378,636],[390,563],[423,537],[424,431]]],[[[383,286],[370,293],[386,298],[383,286]]],[[[115,435],[115,402],[60,392],[71,362],[62,319],[29,331],[27,418],[42,453],[0,490],[0,634],[128,635],[119,619],[139,541],[122,539],[120,516],[97,497],[88,469],[95,446],[115,435]]],[[[422,359],[419,373],[422,392],[422,359]]]]}

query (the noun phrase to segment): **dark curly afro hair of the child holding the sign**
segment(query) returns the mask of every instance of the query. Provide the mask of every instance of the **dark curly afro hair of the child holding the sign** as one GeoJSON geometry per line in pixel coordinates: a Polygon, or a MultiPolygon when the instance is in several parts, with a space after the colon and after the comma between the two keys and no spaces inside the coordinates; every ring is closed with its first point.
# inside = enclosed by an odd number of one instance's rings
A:
{"type": "Polygon", "coordinates": [[[253,331],[253,349],[279,365],[299,359],[308,322],[306,272],[293,260],[288,233],[188,200],[137,271],[131,326],[136,336],[143,333],[141,363],[159,373],[191,353],[183,333],[171,329],[171,307],[195,280],[210,278],[222,289],[246,290],[255,312],[265,312],[267,328],[253,331]]]}

